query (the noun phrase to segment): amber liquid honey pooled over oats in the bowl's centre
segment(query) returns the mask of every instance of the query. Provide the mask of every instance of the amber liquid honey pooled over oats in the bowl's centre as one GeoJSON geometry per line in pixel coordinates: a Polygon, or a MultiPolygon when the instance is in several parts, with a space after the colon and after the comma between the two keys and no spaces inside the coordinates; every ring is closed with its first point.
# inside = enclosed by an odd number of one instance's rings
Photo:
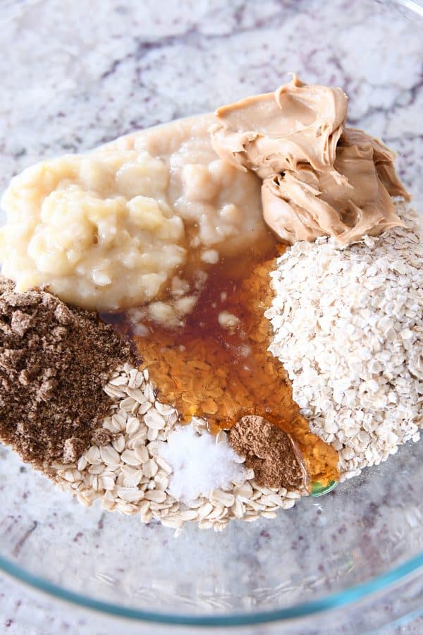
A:
{"type": "Polygon", "coordinates": [[[338,454],[310,432],[283,366],[267,350],[271,326],[264,311],[272,299],[269,272],[276,268],[276,252],[260,262],[246,260],[247,265],[226,262],[209,272],[185,326],[166,329],[143,321],[149,335],[132,335],[141,368],[149,369],[182,421],[204,416],[212,433],[231,428],[247,414],[267,418],[293,437],[310,480],[326,485],[338,480],[338,454]],[[238,317],[237,328],[219,324],[223,310],[238,317]]]}

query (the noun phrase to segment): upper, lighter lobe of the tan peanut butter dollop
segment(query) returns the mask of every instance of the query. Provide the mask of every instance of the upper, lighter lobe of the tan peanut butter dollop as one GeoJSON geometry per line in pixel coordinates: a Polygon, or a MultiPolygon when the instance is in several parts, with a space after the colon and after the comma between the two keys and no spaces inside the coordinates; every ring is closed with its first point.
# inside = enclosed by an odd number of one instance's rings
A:
{"type": "Polygon", "coordinates": [[[301,164],[331,169],[347,106],[341,88],[306,85],[294,75],[275,92],[218,108],[212,143],[226,161],[261,179],[301,164]]]}

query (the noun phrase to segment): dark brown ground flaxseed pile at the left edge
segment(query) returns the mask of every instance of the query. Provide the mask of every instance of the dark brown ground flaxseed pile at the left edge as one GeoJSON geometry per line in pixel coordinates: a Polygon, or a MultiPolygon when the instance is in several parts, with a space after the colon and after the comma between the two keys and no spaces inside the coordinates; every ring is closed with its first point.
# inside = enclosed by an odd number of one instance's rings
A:
{"type": "Polygon", "coordinates": [[[38,467],[75,461],[109,410],[102,387],[131,358],[97,313],[0,278],[1,442],[38,467]]]}

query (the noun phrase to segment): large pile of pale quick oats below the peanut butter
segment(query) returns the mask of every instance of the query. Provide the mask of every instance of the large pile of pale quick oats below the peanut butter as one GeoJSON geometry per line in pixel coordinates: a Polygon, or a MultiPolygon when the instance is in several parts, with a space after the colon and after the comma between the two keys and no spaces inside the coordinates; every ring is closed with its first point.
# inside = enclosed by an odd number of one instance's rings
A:
{"type": "Polygon", "coordinates": [[[423,226],[341,250],[299,242],[272,272],[270,351],[313,433],[339,452],[342,480],[377,465],[423,425],[423,226]]]}

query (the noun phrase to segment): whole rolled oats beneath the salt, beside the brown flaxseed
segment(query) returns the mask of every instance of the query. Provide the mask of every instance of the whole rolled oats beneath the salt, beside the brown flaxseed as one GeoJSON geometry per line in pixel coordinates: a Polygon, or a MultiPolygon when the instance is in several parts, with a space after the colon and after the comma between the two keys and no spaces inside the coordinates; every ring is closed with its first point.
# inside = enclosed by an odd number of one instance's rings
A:
{"type": "MultiPolygon", "coordinates": [[[[161,403],[149,380],[148,370],[125,364],[116,370],[104,388],[114,400],[103,427],[112,435],[110,444],[93,445],[75,464],[54,464],[56,483],[82,504],[101,501],[103,509],[122,514],[139,514],[144,523],[161,521],[177,532],[185,521],[197,521],[202,529],[223,530],[230,519],[256,521],[274,518],[278,509],[289,509],[306,490],[288,492],[258,485],[252,470],[245,470],[242,482],[214,489],[188,504],[169,493],[171,466],[159,449],[176,428],[178,412],[161,403]]],[[[198,434],[209,434],[204,419],[193,418],[198,434]]],[[[216,443],[225,441],[216,435],[216,443]]]]}

